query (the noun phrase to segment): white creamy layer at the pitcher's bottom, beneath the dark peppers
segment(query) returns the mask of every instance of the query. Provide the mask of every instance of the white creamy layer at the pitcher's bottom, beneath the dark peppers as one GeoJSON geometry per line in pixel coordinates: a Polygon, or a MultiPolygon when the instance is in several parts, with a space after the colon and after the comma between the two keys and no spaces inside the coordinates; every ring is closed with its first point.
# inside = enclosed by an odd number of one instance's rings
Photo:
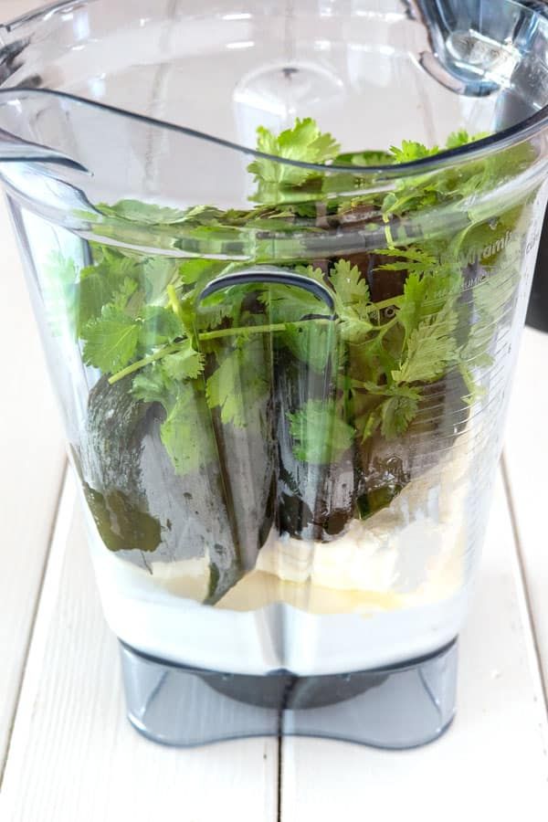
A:
{"type": "Polygon", "coordinates": [[[206,556],[152,561],[150,574],[109,552],[91,524],[106,618],[133,648],[232,673],[345,672],[434,651],[458,634],[467,606],[467,463],[463,442],[331,543],[271,533],[216,606],[196,601],[208,590],[206,556]]]}

